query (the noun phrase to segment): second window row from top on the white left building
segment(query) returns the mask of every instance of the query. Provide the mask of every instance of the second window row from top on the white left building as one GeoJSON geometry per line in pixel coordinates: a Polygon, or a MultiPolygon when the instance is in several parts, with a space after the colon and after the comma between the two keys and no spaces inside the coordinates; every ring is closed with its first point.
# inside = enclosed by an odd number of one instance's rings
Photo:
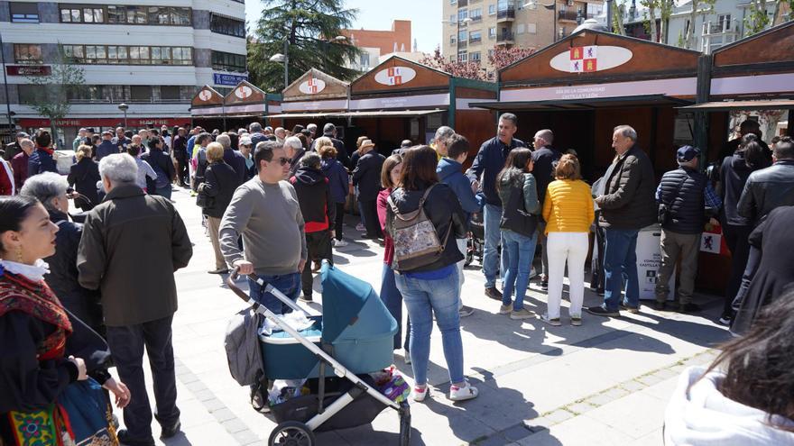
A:
{"type": "Polygon", "coordinates": [[[190,47],[63,45],[68,58],[97,65],[193,65],[190,47]]]}

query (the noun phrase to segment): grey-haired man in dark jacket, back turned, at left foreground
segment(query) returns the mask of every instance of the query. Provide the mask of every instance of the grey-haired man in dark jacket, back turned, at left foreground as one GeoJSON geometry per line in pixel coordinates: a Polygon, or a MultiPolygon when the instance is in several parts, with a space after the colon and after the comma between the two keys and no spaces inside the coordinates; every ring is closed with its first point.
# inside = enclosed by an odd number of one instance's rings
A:
{"type": "Polygon", "coordinates": [[[152,409],[143,379],[143,348],[154,380],[154,417],[162,438],[180,431],[176,405],[171,322],[177,311],[173,273],[188,265],[193,249],[171,202],[135,185],[138,167],[127,154],[99,163],[107,195],[86,217],[78,248],[78,280],[101,289],[107,343],[118,375],[133,396],[125,407],[127,445],[153,445],[152,409]]]}

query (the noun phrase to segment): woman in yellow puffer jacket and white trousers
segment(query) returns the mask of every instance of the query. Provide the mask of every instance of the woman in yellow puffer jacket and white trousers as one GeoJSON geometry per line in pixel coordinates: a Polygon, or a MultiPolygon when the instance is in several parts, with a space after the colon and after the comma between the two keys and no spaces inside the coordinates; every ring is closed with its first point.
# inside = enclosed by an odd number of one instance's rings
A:
{"type": "Polygon", "coordinates": [[[572,325],[582,324],[582,301],[585,298],[585,259],[589,248],[590,225],[594,207],[590,187],[582,181],[579,160],[574,155],[559,159],[554,176],[543,202],[543,219],[549,250],[549,301],[547,313],[540,319],[559,326],[559,302],[562,298],[562,279],[568,261],[570,308],[572,325]]]}

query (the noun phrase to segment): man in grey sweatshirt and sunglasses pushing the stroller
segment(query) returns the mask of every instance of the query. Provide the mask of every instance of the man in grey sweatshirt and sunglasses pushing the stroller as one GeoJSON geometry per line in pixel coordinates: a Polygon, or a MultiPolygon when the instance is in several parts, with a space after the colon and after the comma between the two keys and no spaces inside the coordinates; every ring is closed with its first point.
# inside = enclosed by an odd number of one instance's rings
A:
{"type": "MultiPolygon", "coordinates": [[[[300,272],[306,265],[307,250],[298,196],[285,181],[290,162],[282,143],[256,144],[258,175],[237,187],[218,232],[229,265],[242,275],[256,274],[294,301],[300,296],[300,272]],[[245,252],[237,245],[241,234],[245,252]]],[[[282,314],[287,308],[250,278],[248,286],[250,296],[273,313],[282,314]]]]}

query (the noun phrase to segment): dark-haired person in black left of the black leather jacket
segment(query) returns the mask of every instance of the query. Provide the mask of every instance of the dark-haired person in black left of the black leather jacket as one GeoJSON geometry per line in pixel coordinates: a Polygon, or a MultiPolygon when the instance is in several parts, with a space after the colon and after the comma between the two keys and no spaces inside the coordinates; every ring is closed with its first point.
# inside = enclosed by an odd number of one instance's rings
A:
{"type": "Polygon", "coordinates": [[[723,314],[719,322],[729,325],[734,318],[731,305],[742,282],[744,267],[750,253],[747,238],[752,231],[752,222],[739,215],[737,208],[739,198],[742,196],[747,177],[756,170],[769,167],[769,162],[764,155],[758,137],[748,133],[742,137],[739,150],[733,156],[725,157],[720,168],[720,197],[723,206],[720,208],[720,223],[722,225],[725,244],[731,250],[731,272],[728,285],[725,287],[725,302],[723,314]]]}

